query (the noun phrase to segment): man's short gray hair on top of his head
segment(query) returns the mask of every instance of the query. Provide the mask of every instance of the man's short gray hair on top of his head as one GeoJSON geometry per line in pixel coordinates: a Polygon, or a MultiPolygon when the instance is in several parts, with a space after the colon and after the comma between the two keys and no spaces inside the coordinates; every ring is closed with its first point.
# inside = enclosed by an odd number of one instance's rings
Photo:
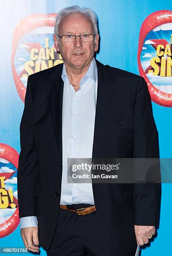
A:
{"type": "Polygon", "coordinates": [[[93,24],[94,34],[96,34],[96,35],[98,34],[96,13],[94,13],[94,11],[90,8],[84,8],[84,7],[81,8],[78,5],[63,8],[62,10],[59,11],[59,13],[57,13],[56,22],[55,22],[55,26],[54,26],[54,34],[58,34],[58,25],[61,22],[61,20],[66,15],[72,14],[72,13],[81,13],[81,14],[86,15],[91,20],[91,22],[93,24]]]}

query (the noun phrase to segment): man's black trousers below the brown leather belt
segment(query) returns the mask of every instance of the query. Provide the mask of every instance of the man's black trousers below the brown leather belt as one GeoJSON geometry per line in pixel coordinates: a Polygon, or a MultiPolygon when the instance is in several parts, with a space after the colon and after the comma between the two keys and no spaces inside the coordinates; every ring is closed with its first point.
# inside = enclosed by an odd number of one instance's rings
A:
{"type": "MultiPolygon", "coordinates": [[[[91,205],[67,205],[79,209],[91,205]]],[[[86,215],[59,208],[58,221],[48,256],[113,256],[99,227],[96,211],[86,215]]]]}

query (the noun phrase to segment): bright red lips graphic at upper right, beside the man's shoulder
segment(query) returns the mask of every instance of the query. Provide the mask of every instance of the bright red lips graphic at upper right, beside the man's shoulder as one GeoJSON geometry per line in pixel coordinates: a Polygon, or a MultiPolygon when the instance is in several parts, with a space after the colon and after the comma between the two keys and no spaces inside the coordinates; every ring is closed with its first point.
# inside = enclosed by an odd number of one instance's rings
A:
{"type": "MultiPolygon", "coordinates": [[[[138,47],[138,54],[137,54],[137,61],[139,66],[139,73],[147,82],[147,86],[149,89],[151,100],[159,105],[165,106],[165,107],[172,107],[172,94],[167,92],[162,92],[158,90],[154,85],[150,82],[148,79],[146,73],[147,70],[144,71],[142,64],[141,64],[141,52],[142,47],[144,44],[145,37],[147,34],[152,31],[152,29],[156,28],[157,26],[160,26],[162,24],[166,23],[172,23],[172,11],[170,10],[160,10],[157,12],[154,12],[150,14],[142,23],[140,34],[139,34],[139,47],[138,47]]],[[[163,38],[161,38],[163,39],[163,38]]],[[[165,40],[159,40],[159,39],[151,39],[153,42],[154,49],[157,46],[157,42],[159,41],[159,44],[168,44],[165,40]]],[[[171,46],[169,46],[171,47],[171,46]]]]}

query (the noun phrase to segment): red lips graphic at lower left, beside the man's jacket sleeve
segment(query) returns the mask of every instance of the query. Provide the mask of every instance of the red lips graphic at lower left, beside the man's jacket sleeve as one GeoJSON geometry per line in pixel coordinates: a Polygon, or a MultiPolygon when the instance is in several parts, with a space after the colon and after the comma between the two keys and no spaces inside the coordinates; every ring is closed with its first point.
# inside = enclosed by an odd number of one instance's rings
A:
{"type": "MultiPolygon", "coordinates": [[[[17,151],[15,151],[14,148],[0,143],[0,157],[10,161],[17,169],[18,169],[18,157],[19,154],[17,151]]],[[[13,173],[0,173],[0,176],[5,176],[5,179],[9,179],[13,173]]],[[[15,205],[18,206],[18,200],[13,196],[13,202],[15,205]]],[[[0,224],[0,238],[3,238],[5,236],[8,236],[10,233],[12,233],[19,224],[19,213],[18,213],[18,207],[16,208],[13,215],[6,220],[4,223],[0,224]]]]}

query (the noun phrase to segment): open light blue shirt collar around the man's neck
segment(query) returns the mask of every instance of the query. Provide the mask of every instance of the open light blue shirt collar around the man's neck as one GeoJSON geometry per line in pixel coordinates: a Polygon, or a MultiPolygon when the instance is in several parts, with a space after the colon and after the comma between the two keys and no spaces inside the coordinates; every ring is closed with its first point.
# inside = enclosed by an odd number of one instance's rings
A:
{"type": "MultiPolygon", "coordinates": [[[[90,64],[86,74],[84,75],[84,77],[81,80],[84,80],[86,77],[90,77],[90,78],[92,78],[94,80],[94,82],[96,82],[96,79],[97,79],[97,66],[96,66],[96,61],[95,61],[94,58],[91,61],[91,64],[90,64]]],[[[68,80],[68,82],[69,82],[68,74],[66,72],[66,67],[65,67],[64,63],[63,63],[63,70],[62,70],[61,78],[63,79],[63,82],[66,82],[66,80],[68,80]]]]}

